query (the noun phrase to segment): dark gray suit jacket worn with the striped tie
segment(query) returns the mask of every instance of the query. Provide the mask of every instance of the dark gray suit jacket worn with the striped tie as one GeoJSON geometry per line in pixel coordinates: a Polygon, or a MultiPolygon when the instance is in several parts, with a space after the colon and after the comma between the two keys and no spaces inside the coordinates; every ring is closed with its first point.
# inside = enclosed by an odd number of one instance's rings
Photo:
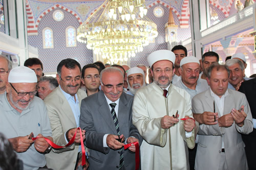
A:
{"type": "MultiPolygon", "coordinates": [[[[120,134],[123,134],[125,138],[134,136],[141,143],[142,137],[132,124],[132,105],[133,96],[122,93],[118,108],[120,134]]],[[[102,90],[82,100],[80,127],[86,130],[85,143],[90,152],[88,159],[90,169],[117,169],[120,160],[120,150],[103,147],[103,136],[105,134],[117,135],[117,130],[102,90]]],[[[123,157],[123,167],[134,170],[135,153],[123,150],[123,157]]]]}

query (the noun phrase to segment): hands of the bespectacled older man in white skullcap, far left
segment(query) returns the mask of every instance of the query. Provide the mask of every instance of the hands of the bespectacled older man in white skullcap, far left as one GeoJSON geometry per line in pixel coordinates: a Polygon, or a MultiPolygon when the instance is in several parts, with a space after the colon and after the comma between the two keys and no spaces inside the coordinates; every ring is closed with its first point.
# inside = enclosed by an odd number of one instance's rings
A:
{"type": "MultiPolygon", "coordinates": [[[[16,152],[25,152],[29,149],[31,144],[34,142],[34,147],[36,151],[40,153],[44,153],[49,148],[49,143],[46,139],[42,138],[41,134],[38,134],[36,137],[40,137],[35,139],[29,139],[29,135],[27,136],[18,136],[14,138],[9,138],[9,142],[12,143],[12,147],[16,152]]],[[[47,137],[49,140],[53,141],[52,137],[47,137]]]]}

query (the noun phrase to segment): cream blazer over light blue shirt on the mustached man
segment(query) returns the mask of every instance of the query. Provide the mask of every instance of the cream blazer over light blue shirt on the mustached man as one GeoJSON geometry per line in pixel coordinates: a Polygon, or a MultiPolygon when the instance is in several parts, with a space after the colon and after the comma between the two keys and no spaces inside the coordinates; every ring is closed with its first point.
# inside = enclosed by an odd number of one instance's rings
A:
{"type": "MultiPolygon", "coordinates": [[[[86,98],[87,94],[83,90],[79,89],[77,97],[79,104],[81,100],[86,98]]],[[[52,137],[54,143],[65,146],[67,144],[65,140],[65,133],[72,128],[76,128],[76,120],[69,102],[65,98],[59,87],[56,87],[44,100],[48,110],[48,115],[52,128],[52,137]]],[[[46,154],[47,167],[54,170],[57,169],[74,169],[76,164],[76,158],[78,154],[78,144],[73,144],[71,147],[61,149],[58,151],[52,150],[49,154],[46,154]]]]}

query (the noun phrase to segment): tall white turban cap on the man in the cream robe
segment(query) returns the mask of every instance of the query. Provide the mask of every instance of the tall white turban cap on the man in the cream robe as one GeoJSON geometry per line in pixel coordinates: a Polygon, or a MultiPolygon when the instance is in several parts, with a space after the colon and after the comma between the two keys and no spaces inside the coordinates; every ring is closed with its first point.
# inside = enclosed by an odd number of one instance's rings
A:
{"type": "Polygon", "coordinates": [[[175,54],[172,51],[158,50],[158,51],[151,53],[147,57],[147,62],[148,62],[148,64],[150,64],[150,67],[152,67],[153,64],[155,64],[156,62],[161,61],[161,60],[168,60],[174,64],[175,58],[176,58],[175,54]]]}

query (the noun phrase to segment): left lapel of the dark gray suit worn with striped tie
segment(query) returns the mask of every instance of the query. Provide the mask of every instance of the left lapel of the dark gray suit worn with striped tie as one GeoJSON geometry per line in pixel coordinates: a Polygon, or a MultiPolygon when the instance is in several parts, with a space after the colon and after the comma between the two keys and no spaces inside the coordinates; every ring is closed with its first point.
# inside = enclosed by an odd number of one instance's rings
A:
{"type": "MultiPolygon", "coordinates": [[[[98,101],[99,101],[99,113],[102,116],[103,121],[106,122],[106,124],[109,125],[110,129],[113,131],[113,134],[117,134],[116,127],[114,124],[114,120],[108,105],[108,102],[106,102],[105,96],[103,91],[101,90],[98,92],[98,101]]],[[[119,120],[119,119],[118,119],[119,120]]]]}

